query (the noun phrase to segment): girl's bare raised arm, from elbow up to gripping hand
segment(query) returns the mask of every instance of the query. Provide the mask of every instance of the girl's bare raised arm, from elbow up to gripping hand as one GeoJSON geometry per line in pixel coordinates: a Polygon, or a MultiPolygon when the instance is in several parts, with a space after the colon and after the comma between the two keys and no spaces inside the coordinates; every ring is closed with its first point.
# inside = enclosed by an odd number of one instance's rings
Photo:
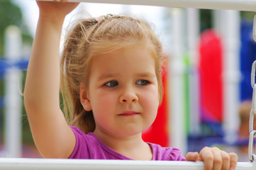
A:
{"type": "Polygon", "coordinates": [[[75,137],[60,110],[60,36],[78,4],[38,1],[40,16],[28,64],[24,104],[35,145],[43,157],[67,158],[75,137]],[[64,142],[65,141],[65,142],[64,142]]]}

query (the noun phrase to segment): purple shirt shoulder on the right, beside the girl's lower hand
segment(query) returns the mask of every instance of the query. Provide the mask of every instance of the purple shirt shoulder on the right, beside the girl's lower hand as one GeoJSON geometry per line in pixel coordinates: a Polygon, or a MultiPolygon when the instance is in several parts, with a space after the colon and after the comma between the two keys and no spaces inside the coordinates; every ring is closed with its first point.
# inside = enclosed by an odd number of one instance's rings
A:
{"type": "Polygon", "coordinates": [[[148,143],[152,148],[153,160],[184,161],[182,150],[175,147],[161,147],[157,144],[148,143]]]}

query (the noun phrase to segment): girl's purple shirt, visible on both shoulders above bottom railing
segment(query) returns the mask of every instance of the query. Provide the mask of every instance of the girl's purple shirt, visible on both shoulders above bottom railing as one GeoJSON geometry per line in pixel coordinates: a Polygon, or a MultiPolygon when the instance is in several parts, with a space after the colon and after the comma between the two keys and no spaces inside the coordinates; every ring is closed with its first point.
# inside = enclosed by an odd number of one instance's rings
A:
{"type": "MultiPolygon", "coordinates": [[[[123,154],[119,154],[104,142],[99,140],[94,133],[89,132],[85,134],[79,128],[74,126],[70,127],[76,137],[76,145],[69,159],[124,159],[132,160],[125,157],[123,154]]],[[[181,150],[171,147],[161,147],[160,145],[148,143],[152,149],[153,158],[152,160],[162,161],[184,161],[181,150]]]]}

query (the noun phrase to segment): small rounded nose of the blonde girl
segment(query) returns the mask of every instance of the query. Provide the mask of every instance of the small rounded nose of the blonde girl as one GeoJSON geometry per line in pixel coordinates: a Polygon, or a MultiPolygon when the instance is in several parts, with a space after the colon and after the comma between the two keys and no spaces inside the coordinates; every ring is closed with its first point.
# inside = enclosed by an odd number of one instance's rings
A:
{"type": "Polygon", "coordinates": [[[133,103],[138,101],[138,95],[135,93],[133,88],[126,88],[122,91],[119,101],[121,103],[133,103]]]}

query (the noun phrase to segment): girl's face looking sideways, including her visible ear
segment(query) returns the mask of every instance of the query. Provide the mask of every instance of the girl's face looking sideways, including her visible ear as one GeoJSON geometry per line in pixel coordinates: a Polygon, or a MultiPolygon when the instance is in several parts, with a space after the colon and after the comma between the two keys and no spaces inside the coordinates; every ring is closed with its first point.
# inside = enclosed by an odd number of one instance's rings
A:
{"type": "Polygon", "coordinates": [[[81,86],[80,98],[84,109],[94,113],[96,135],[140,134],[155,120],[159,105],[152,53],[140,45],[95,57],[89,89],[81,86]]]}

